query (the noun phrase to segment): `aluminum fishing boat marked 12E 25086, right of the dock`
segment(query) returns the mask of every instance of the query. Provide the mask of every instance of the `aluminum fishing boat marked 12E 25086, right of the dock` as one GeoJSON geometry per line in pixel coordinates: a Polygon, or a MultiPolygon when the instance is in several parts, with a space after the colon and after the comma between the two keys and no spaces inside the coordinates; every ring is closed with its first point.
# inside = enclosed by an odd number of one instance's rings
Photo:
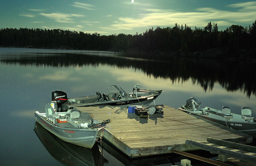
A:
{"type": "Polygon", "coordinates": [[[191,97],[187,100],[186,105],[181,105],[180,110],[191,115],[204,118],[229,128],[255,135],[256,118],[252,116],[250,107],[242,107],[241,114],[232,113],[229,107],[223,106],[222,109],[214,109],[204,107],[200,109],[199,103],[195,98],[191,97]]]}

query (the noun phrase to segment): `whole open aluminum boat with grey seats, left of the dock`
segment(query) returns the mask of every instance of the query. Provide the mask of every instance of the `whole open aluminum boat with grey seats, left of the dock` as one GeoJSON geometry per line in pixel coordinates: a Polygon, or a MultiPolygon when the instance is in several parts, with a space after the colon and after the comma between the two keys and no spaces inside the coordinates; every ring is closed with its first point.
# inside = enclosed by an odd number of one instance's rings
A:
{"type": "Polygon", "coordinates": [[[35,111],[36,122],[59,139],[86,148],[92,148],[103,135],[105,124],[110,120],[99,122],[89,113],[77,109],[56,112],[57,102],[45,105],[45,112],[35,111]]]}

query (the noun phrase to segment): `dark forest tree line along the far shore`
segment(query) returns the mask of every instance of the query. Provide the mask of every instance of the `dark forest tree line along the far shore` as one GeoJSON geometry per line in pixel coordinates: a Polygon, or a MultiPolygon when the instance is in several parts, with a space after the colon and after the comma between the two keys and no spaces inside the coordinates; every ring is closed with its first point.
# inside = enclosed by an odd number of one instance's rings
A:
{"type": "Polygon", "coordinates": [[[1,28],[0,46],[31,48],[63,48],[83,50],[111,50],[147,53],[202,52],[220,48],[229,57],[237,57],[239,50],[256,48],[256,20],[252,26],[231,25],[224,31],[217,23],[204,29],[175,24],[174,27],[149,28],[143,34],[88,34],[61,29],[1,28]]]}

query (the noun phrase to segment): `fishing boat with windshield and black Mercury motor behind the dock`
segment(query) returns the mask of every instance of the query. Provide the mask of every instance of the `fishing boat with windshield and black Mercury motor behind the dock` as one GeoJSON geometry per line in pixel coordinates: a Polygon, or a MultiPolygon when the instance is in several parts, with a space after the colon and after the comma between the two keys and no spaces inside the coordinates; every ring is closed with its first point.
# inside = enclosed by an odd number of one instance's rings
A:
{"type": "Polygon", "coordinates": [[[147,105],[155,100],[163,90],[140,89],[140,85],[134,86],[132,93],[127,93],[123,88],[111,85],[107,87],[108,94],[100,94],[96,91],[96,95],[67,98],[67,94],[63,91],[52,92],[52,101],[57,101],[58,112],[62,112],[74,107],[88,107],[98,105],[147,105]],[[136,90],[136,92],[134,92],[136,90]]]}

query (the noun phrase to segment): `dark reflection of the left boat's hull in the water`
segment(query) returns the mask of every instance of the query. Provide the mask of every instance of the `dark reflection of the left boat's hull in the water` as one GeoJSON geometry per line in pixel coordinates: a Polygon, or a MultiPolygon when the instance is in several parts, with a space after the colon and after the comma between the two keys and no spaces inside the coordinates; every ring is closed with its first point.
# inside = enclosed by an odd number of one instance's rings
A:
{"type": "Polygon", "coordinates": [[[60,140],[37,122],[34,131],[48,152],[65,165],[102,166],[108,163],[97,144],[91,149],[70,144],[60,140]]]}

